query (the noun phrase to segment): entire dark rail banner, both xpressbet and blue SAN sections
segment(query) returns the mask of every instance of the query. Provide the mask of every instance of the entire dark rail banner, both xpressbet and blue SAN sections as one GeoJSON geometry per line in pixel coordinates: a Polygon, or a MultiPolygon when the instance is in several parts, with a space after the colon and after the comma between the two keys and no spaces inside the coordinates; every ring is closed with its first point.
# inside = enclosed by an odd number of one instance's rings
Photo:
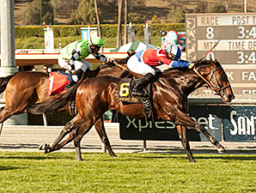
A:
{"type": "MultiPolygon", "coordinates": [[[[256,142],[255,106],[190,106],[192,119],[218,141],[256,142]],[[222,139],[222,136],[224,137],[222,139]]],[[[175,124],[170,121],[149,121],[119,115],[120,138],[124,140],[180,141],[175,124]]],[[[208,142],[195,130],[187,130],[190,141],[208,142]]]]}

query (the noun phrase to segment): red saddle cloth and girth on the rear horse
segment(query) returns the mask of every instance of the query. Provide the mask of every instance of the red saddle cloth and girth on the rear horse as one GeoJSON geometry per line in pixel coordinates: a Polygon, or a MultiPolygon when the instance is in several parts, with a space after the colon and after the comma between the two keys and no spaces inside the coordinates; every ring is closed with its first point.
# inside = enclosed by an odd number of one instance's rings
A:
{"type": "MultiPolygon", "coordinates": [[[[63,71],[56,71],[49,73],[49,82],[47,88],[47,94],[53,95],[56,93],[64,94],[67,92],[65,88],[68,83],[70,83],[71,74],[65,73],[63,71]]],[[[76,115],[76,99],[70,101],[70,115],[76,115]]]]}

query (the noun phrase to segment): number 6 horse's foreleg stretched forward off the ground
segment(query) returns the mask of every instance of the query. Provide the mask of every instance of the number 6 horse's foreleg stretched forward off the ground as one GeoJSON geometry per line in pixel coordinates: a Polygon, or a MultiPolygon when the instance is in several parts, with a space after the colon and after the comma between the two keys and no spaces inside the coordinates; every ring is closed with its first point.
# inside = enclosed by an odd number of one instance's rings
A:
{"type": "Polygon", "coordinates": [[[225,149],[216,140],[216,138],[211,136],[210,133],[207,130],[205,130],[203,125],[198,124],[197,122],[192,120],[192,118],[190,118],[185,112],[177,112],[177,118],[175,120],[175,124],[185,125],[186,127],[189,127],[194,130],[197,130],[198,132],[201,132],[216,147],[218,153],[225,153],[225,149]]]}

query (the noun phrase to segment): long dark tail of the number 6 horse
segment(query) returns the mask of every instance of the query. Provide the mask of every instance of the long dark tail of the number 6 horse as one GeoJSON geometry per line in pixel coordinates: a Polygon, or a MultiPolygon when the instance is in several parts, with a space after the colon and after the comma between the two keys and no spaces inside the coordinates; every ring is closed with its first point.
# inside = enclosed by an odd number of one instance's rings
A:
{"type": "Polygon", "coordinates": [[[66,93],[61,94],[58,97],[52,96],[47,100],[42,101],[41,103],[36,103],[27,106],[27,112],[37,115],[42,113],[52,113],[58,111],[59,109],[64,107],[70,100],[75,99],[76,90],[81,83],[82,81],[76,83],[76,85],[70,87],[70,89],[66,93]]]}

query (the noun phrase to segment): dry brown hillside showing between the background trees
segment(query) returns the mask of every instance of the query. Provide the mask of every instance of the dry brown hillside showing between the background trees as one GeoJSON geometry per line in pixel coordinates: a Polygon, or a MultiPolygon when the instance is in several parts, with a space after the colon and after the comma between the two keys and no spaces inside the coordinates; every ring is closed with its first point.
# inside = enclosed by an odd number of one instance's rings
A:
{"type": "MultiPolygon", "coordinates": [[[[15,0],[15,25],[22,25],[22,15],[29,3],[33,0],[15,0]]],[[[67,6],[58,9],[60,4],[64,4],[64,0],[52,0],[56,3],[56,24],[68,24],[70,13],[76,9],[78,2],[76,0],[73,6],[67,6]]],[[[67,0],[66,0],[67,1],[67,0]]],[[[117,18],[117,1],[118,0],[98,0],[99,7],[102,9],[104,15],[104,22],[115,23],[117,18]]],[[[154,15],[165,21],[167,19],[168,12],[175,8],[181,8],[186,13],[192,13],[201,3],[216,3],[221,2],[228,7],[228,12],[243,12],[244,0],[133,0],[129,1],[129,12],[143,15],[146,21],[150,21],[154,15]]],[[[70,3],[70,1],[68,1],[70,3]]],[[[256,3],[254,0],[247,0],[247,12],[256,12],[256,3]]]]}

